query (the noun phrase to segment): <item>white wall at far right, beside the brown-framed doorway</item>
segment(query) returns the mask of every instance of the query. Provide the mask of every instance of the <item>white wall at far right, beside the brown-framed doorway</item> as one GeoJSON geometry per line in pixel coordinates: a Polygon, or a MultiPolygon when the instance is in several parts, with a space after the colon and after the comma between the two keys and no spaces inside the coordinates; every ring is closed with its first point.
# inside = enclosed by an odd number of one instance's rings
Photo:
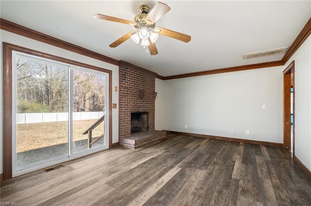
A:
{"type": "Polygon", "coordinates": [[[295,61],[295,156],[311,171],[311,36],[285,64],[295,61]]]}

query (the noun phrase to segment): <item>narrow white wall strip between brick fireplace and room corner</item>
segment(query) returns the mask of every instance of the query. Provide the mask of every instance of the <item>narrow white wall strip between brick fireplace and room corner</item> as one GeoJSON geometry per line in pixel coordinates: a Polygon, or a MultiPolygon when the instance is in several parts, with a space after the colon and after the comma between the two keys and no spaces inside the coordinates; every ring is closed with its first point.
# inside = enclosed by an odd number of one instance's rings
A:
{"type": "Polygon", "coordinates": [[[163,130],[164,116],[164,80],[155,78],[155,130],[163,130]]]}

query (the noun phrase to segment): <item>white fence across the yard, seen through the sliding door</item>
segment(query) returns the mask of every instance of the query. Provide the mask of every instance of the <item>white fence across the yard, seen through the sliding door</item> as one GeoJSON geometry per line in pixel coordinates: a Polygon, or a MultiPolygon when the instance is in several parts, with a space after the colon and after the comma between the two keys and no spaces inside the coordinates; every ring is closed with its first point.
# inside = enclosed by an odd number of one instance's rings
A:
{"type": "MultiPolygon", "coordinates": [[[[73,112],[73,120],[98,119],[103,115],[103,111],[73,112]]],[[[60,121],[68,121],[68,112],[16,114],[17,124],[60,121]]]]}

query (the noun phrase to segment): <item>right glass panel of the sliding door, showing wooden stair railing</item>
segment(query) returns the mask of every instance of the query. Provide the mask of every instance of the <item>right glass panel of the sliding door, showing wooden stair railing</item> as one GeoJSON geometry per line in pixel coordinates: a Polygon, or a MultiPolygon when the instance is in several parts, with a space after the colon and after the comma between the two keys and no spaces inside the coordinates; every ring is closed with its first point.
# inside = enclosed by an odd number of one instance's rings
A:
{"type": "Polygon", "coordinates": [[[105,135],[105,75],[73,68],[73,153],[104,147],[105,135]]]}

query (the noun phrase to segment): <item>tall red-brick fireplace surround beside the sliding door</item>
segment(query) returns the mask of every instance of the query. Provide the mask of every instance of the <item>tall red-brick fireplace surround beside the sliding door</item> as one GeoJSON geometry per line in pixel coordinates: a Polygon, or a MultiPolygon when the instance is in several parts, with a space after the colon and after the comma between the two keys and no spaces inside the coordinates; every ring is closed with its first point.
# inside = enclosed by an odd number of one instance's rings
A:
{"type": "MultiPolygon", "coordinates": [[[[130,63],[120,61],[119,66],[119,142],[128,144],[127,139],[142,136],[141,132],[131,133],[132,113],[144,113],[146,120],[145,133],[152,134],[163,131],[155,131],[155,76],[156,73],[130,63]]],[[[132,128],[133,129],[133,128],[132,128]]],[[[166,134],[166,133],[165,133],[166,134]]],[[[140,138],[141,139],[141,138],[140,138]]],[[[147,139],[150,139],[147,138],[147,139]]],[[[156,139],[156,138],[151,138],[156,139]]],[[[139,142],[139,141],[136,141],[139,142]]],[[[140,141],[141,142],[141,141],[140,141]]],[[[127,145],[130,146],[131,145],[127,145]]],[[[138,145],[133,145],[136,148],[138,145]]]]}

